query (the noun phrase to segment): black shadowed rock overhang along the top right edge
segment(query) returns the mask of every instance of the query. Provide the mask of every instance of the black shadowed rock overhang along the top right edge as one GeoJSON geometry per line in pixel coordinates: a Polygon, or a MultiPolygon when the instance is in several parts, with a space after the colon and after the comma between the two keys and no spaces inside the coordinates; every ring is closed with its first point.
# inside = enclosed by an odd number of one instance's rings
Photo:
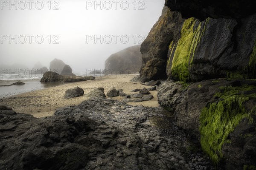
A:
{"type": "Polygon", "coordinates": [[[253,0],[166,0],[165,5],[172,11],[180,11],[183,18],[205,20],[248,17],[255,13],[256,3],[253,0]]]}

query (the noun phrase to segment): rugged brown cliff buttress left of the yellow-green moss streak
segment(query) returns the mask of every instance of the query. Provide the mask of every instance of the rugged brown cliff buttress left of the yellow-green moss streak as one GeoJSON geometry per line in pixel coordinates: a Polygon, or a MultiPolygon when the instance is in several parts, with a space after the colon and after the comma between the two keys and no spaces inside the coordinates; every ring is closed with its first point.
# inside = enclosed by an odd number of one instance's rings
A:
{"type": "Polygon", "coordinates": [[[143,65],[140,69],[140,81],[166,78],[169,45],[172,40],[180,38],[183,22],[180,13],[171,12],[168,7],[163,8],[161,17],[141,44],[143,65]]]}

